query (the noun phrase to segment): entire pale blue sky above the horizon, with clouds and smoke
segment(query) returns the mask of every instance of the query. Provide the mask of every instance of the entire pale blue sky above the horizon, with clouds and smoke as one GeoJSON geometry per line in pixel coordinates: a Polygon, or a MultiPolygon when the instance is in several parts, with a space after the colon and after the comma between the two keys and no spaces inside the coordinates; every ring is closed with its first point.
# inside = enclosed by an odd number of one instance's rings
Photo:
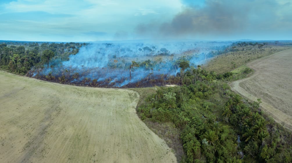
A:
{"type": "Polygon", "coordinates": [[[291,40],[291,0],[1,0],[0,40],[291,40]]]}

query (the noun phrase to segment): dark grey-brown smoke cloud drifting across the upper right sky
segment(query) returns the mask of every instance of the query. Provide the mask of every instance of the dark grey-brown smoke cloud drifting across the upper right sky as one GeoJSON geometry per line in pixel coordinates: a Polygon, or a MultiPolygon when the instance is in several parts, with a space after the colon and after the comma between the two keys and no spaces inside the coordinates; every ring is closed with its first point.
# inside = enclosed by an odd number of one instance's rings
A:
{"type": "Polygon", "coordinates": [[[141,36],[153,33],[154,38],[214,39],[275,31],[288,32],[291,36],[291,7],[290,3],[276,0],[206,0],[201,7],[185,6],[171,21],[159,25],[141,23],[135,32],[141,36]]]}

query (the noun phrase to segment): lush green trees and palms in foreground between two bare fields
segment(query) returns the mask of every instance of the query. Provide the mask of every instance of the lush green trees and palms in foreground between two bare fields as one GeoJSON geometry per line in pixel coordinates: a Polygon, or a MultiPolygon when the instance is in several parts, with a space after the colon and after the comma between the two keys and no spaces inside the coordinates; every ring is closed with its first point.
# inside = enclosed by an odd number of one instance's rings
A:
{"type": "Polygon", "coordinates": [[[291,133],[259,110],[260,99],[248,103],[200,67],[182,74],[183,81],[188,74],[196,81],[157,87],[137,108],[143,121],[170,123],[180,131],[185,152],[180,162],[292,162],[291,133]]]}

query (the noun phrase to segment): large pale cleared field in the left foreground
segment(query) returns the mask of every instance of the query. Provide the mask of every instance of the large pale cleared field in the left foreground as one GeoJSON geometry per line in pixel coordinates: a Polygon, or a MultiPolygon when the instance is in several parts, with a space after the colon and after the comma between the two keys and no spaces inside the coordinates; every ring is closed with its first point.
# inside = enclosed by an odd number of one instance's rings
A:
{"type": "Polygon", "coordinates": [[[138,98],[0,71],[0,162],[176,162],[136,115],[138,98]]]}

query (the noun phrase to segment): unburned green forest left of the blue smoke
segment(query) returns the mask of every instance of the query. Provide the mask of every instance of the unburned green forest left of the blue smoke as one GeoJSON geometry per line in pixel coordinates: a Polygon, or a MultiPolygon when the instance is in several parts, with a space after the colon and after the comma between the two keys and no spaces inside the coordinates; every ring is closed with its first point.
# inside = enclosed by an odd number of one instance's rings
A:
{"type": "Polygon", "coordinates": [[[0,44],[0,68],[16,74],[26,74],[33,66],[42,66],[48,60],[43,52],[49,51],[55,60],[68,60],[70,54],[76,54],[86,43],[37,43],[2,42],[0,44]]]}

